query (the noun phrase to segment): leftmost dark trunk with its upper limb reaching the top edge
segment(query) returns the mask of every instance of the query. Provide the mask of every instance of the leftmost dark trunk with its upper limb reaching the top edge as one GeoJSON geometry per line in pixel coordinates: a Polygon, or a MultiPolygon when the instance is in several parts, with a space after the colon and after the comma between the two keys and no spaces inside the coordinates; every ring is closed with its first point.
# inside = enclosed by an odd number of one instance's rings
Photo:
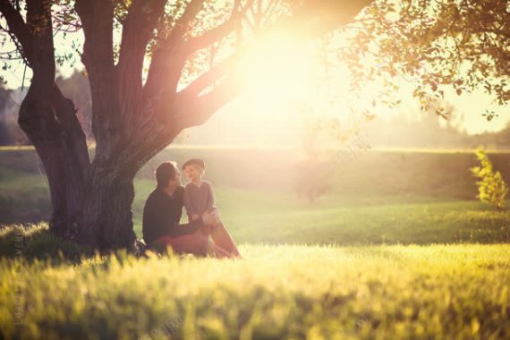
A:
{"type": "Polygon", "coordinates": [[[54,209],[50,230],[71,236],[71,226],[76,223],[83,202],[89,153],[72,101],[55,85],[51,4],[29,0],[27,5],[27,26],[13,13],[8,16],[13,28],[19,30],[25,57],[34,73],[21,103],[19,123],[46,170],[54,209]]]}

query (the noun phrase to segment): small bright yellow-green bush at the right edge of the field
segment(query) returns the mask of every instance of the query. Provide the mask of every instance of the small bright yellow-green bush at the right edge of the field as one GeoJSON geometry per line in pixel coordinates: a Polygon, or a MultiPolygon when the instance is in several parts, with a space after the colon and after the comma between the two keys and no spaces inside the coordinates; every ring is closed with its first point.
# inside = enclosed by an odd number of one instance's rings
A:
{"type": "Polygon", "coordinates": [[[508,193],[503,177],[499,171],[494,172],[492,163],[483,149],[476,151],[476,157],[481,166],[472,167],[472,174],[480,178],[478,184],[478,198],[482,202],[489,203],[497,209],[505,208],[505,198],[508,193]]]}

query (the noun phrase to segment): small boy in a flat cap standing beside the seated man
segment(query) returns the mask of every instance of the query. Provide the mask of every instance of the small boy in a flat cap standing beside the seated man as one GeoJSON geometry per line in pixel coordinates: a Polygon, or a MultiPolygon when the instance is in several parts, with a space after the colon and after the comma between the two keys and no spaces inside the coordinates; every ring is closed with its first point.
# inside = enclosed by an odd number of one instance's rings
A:
{"type": "MultiPolygon", "coordinates": [[[[190,221],[199,219],[203,213],[208,212],[218,216],[217,208],[214,207],[214,193],[211,183],[202,180],[206,172],[204,161],[200,158],[191,158],[183,164],[182,169],[190,182],[184,186],[184,207],[190,221]]],[[[240,256],[234,240],[226,231],[221,222],[212,225],[212,230],[206,229],[206,236],[211,236],[213,241],[225,251],[234,256],[240,256]]]]}

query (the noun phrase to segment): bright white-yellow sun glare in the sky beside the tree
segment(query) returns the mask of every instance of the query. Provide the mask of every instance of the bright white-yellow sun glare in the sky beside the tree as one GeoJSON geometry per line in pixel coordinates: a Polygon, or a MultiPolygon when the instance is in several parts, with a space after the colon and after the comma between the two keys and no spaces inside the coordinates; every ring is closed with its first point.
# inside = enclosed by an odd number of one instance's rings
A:
{"type": "Polygon", "coordinates": [[[349,96],[350,73],[344,64],[326,64],[321,47],[289,32],[251,46],[242,60],[244,92],[234,109],[247,126],[245,140],[259,142],[266,134],[277,145],[297,141],[310,122],[322,118],[343,122],[343,129],[355,124],[351,101],[365,100],[349,96]]]}

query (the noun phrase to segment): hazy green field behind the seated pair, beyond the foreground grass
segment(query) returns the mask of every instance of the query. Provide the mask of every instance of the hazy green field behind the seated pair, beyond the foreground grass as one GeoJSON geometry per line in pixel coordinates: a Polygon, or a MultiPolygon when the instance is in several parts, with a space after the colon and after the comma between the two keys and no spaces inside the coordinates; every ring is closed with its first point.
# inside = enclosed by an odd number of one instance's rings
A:
{"type": "MultiPolygon", "coordinates": [[[[475,199],[470,152],[369,151],[332,168],[329,193],[310,204],[293,191],[288,150],[166,149],[135,181],[133,216],[141,237],[143,204],[159,162],[204,157],[217,207],[238,242],[509,242],[508,210],[475,199]]],[[[510,154],[490,158],[510,183],[510,154]]],[[[30,149],[0,151],[0,224],[47,220],[44,174],[30,149]]],[[[310,181],[314,181],[310,178],[310,181]]]]}

